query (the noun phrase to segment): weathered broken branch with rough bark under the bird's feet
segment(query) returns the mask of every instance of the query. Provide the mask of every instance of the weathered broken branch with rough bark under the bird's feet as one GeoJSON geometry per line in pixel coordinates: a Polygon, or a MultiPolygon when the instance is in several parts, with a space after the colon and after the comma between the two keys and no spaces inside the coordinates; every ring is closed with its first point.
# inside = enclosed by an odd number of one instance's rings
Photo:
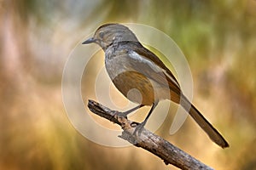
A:
{"type": "Polygon", "coordinates": [[[137,123],[131,122],[124,116],[119,116],[119,111],[112,111],[93,100],[89,100],[88,107],[90,111],[96,115],[102,116],[111,122],[119,124],[119,126],[124,130],[119,136],[120,138],[160,157],[166,165],[172,164],[173,166],[181,169],[212,169],[212,167],[208,167],[201,161],[189,156],[189,154],[185,153],[183,150],[178,149],[173,144],[160,138],[160,136],[151,133],[145,128],[143,128],[140,135],[133,134],[137,123]]]}

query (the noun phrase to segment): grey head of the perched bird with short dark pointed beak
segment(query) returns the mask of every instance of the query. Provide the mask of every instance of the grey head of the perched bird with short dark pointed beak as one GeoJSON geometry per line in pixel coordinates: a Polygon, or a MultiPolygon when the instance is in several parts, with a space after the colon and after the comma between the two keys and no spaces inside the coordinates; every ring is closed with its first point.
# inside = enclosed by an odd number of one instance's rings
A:
{"type": "Polygon", "coordinates": [[[93,37],[90,37],[83,44],[95,42],[105,51],[113,42],[138,42],[137,37],[129,28],[119,24],[105,24],[100,26],[93,37]]]}

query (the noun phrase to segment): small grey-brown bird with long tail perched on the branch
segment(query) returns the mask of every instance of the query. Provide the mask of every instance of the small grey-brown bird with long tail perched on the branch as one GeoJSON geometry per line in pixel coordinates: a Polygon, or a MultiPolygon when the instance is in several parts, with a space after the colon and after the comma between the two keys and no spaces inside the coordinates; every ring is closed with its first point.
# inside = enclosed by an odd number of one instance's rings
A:
{"type": "Polygon", "coordinates": [[[135,132],[141,131],[160,100],[169,99],[182,105],[214,143],[222,148],[229,147],[218,130],[186,98],[172,71],[153,52],[144,48],[127,26],[119,23],[99,26],[93,37],[82,42],[89,43],[98,44],[104,51],[105,67],[114,86],[127,99],[138,104],[122,112],[122,115],[127,116],[143,106],[151,106],[144,121],[137,124],[135,132]]]}

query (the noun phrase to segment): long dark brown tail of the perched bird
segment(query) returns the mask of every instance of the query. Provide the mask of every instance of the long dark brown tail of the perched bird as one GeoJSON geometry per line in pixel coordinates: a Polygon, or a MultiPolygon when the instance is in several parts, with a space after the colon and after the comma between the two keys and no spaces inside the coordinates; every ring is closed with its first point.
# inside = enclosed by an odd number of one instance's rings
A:
{"type": "Polygon", "coordinates": [[[192,105],[186,97],[182,97],[181,105],[183,108],[189,112],[189,115],[193,117],[195,122],[208,134],[209,138],[213,142],[221,146],[222,148],[229,147],[230,145],[224,139],[224,137],[218,133],[218,130],[212,127],[212,124],[207,121],[207,119],[202,116],[200,111],[198,111],[194,105],[192,105]]]}

